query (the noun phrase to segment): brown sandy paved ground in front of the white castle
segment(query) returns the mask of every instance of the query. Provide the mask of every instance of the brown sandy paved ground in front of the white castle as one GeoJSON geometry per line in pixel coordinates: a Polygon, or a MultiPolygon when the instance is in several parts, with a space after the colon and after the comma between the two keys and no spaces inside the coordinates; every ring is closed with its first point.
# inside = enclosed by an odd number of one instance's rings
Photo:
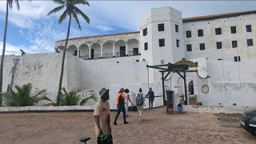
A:
{"type": "MultiPolygon", "coordinates": [[[[113,122],[115,112],[111,112],[113,122]]],[[[137,112],[129,112],[130,122],[124,125],[122,114],[118,126],[112,126],[114,143],[256,143],[242,128],[218,125],[214,114],[165,114],[165,108],[145,110],[144,120],[138,123],[137,112]]],[[[91,112],[0,114],[1,144],[81,143],[88,135],[88,143],[96,143],[94,118],[91,112]]]]}

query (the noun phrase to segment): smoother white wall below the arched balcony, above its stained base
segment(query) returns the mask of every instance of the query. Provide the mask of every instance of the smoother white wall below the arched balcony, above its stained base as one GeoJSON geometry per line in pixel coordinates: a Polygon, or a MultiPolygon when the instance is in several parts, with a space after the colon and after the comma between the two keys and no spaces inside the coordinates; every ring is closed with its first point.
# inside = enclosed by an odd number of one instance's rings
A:
{"type": "Polygon", "coordinates": [[[136,57],[106,58],[106,62],[102,59],[67,59],[69,90],[97,90],[114,84],[147,83],[146,62],[135,62],[136,57]]]}

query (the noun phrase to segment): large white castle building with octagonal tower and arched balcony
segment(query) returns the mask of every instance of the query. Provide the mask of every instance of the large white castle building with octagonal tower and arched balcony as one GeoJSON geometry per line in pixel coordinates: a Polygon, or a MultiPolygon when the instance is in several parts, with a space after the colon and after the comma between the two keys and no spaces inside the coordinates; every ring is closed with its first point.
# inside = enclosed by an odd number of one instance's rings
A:
{"type": "MultiPolygon", "coordinates": [[[[121,87],[132,93],[141,87],[144,94],[152,87],[158,96],[154,106],[162,106],[162,74],[146,66],[197,62],[186,73],[187,100],[226,110],[256,106],[255,23],[256,10],[182,18],[171,7],[154,8],[141,15],[139,31],[70,38],[63,86],[95,94],[109,88],[112,109],[121,87]]],[[[64,44],[55,43],[61,51],[64,44]]],[[[7,56],[3,90],[31,82],[35,90],[56,92],[61,58],[59,53],[7,56]]],[[[174,91],[175,106],[184,98],[179,74],[171,73],[164,87],[174,91]]]]}

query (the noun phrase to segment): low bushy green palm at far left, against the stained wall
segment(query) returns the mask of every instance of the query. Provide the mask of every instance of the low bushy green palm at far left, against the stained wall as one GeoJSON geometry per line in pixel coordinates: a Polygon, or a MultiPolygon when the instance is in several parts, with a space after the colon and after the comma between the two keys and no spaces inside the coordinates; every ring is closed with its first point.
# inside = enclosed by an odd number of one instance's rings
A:
{"type": "Polygon", "coordinates": [[[46,90],[41,90],[34,96],[31,95],[32,85],[31,83],[23,86],[14,86],[17,92],[14,92],[11,88],[3,94],[5,106],[34,106],[42,100],[42,97],[38,97],[46,93],[46,90]]]}

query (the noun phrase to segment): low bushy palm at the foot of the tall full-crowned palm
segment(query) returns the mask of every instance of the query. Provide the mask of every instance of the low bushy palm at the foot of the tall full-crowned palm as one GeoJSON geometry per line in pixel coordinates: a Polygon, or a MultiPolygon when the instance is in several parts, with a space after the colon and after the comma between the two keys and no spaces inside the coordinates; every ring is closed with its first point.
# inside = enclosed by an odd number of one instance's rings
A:
{"type": "MultiPolygon", "coordinates": [[[[60,105],[61,106],[84,106],[86,102],[89,100],[97,101],[97,97],[93,95],[90,95],[86,98],[81,98],[78,95],[78,91],[71,90],[70,92],[66,91],[65,87],[62,87],[62,90],[64,91],[63,97],[60,98],[60,105]],[[82,99],[82,100],[81,100],[82,99]]],[[[51,103],[47,103],[45,106],[56,106],[57,104],[53,102],[50,98],[47,98],[46,96],[42,97],[42,100],[50,101],[51,103]]]]}

